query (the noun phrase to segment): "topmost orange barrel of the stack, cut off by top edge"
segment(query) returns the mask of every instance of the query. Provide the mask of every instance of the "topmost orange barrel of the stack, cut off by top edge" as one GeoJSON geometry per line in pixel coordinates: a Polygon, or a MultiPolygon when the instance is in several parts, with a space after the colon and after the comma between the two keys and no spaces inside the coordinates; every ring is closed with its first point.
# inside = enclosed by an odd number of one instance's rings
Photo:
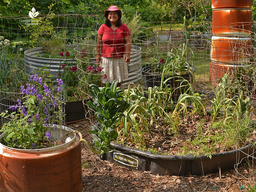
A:
{"type": "Polygon", "coordinates": [[[252,0],[212,0],[212,9],[251,7],[252,0]]]}

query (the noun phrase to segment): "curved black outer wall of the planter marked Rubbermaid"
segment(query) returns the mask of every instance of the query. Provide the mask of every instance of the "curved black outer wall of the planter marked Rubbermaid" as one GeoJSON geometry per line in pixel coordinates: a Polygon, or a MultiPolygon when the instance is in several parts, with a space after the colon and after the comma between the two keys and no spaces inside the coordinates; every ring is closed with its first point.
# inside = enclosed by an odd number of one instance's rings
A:
{"type": "MultiPolygon", "coordinates": [[[[95,126],[99,126],[99,123],[95,126]]],[[[114,148],[112,152],[97,156],[116,166],[151,171],[154,175],[214,174],[235,169],[256,155],[253,143],[232,151],[214,153],[211,158],[208,155],[157,155],[112,142],[111,145],[114,148]]]]}

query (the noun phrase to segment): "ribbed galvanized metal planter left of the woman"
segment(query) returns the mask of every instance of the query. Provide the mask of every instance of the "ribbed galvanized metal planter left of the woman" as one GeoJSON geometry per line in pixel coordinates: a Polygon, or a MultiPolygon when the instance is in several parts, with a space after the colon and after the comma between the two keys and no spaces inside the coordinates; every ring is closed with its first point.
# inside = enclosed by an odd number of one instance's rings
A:
{"type": "MultiPolygon", "coordinates": [[[[72,47],[72,45],[70,45],[70,47],[72,47]]],[[[36,54],[38,53],[42,56],[44,54],[44,47],[37,47],[24,51],[24,65],[26,74],[33,74],[36,69],[45,66],[46,69],[44,69],[44,71],[52,74],[53,78],[58,78],[60,63],[64,63],[64,61],[67,61],[69,63],[73,63],[76,66],[76,59],[43,58],[36,56],[36,54]]]]}

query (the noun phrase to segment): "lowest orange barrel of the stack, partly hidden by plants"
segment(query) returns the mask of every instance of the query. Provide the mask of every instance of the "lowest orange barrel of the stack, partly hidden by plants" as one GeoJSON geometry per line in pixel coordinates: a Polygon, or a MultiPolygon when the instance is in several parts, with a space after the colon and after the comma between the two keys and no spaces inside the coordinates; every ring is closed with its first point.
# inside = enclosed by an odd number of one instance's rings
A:
{"type": "MultiPolygon", "coordinates": [[[[212,85],[218,85],[220,77],[223,77],[226,73],[232,74],[238,67],[241,67],[241,65],[210,62],[210,79],[212,80],[212,85]]],[[[242,65],[242,67],[245,66],[242,65]]]]}

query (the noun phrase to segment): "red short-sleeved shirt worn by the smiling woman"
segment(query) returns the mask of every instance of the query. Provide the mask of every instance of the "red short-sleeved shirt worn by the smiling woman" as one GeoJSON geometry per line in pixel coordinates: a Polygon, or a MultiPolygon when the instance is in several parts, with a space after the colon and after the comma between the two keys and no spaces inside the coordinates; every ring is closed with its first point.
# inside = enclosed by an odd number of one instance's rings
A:
{"type": "Polygon", "coordinates": [[[102,57],[124,57],[125,44],[124,37],[131,35],[127,25],[123,24],[116,30],[111,29],[106,24],[100,25],[98,34],[102,36],[102,57]]]}

